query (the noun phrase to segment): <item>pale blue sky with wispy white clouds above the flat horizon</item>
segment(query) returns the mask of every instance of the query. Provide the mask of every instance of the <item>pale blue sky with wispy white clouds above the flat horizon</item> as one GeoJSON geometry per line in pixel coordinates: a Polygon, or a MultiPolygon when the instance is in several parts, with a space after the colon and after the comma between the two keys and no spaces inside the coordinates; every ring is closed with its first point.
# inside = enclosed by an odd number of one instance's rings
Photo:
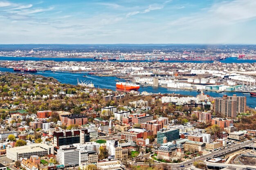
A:
{"type": "Polygon", "coordinates": [[[256,0],[0,0],[0,44],[256,44],[256,0]]]}

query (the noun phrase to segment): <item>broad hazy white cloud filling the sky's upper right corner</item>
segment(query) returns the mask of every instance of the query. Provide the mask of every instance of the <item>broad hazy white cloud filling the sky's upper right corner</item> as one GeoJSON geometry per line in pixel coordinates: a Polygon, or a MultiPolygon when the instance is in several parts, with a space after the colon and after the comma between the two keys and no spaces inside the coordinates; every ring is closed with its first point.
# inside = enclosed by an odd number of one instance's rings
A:
{"type": "Polygon", "coordinates": [[[179,29],[220,27],[256,19],[256,0],[233,0],[213,4],[208,9],[187,17],[178,18],[169,26],[179,29]]]}

